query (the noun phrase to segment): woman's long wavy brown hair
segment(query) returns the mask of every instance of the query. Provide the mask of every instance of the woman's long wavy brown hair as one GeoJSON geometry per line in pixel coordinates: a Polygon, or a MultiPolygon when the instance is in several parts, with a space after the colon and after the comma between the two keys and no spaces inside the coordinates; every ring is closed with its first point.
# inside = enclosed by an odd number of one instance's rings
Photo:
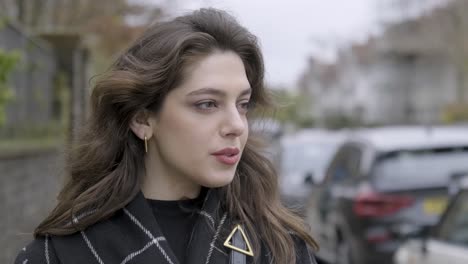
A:
{"type": "MultiPolygon", "coordinates": [[[[95,84],[91,115],[67,159],[70,177],[58,204],[34,235],[67,235],[109,218],[140,191],[144,146],[130,129],[139,111],[159,110],[166,95],[184,81],[184,69],[215,51],[233,51],[243,61],[251,101],[264,107],[264,64],[257,38],[224,11],[201,9],[150,26],[95,84]],[[73,217],[83,212],[79,223],[73,217]]],[[[228,213],[263,242],[276,263],[294,263],[291,232],[316,247],[303,221],[285,209],[272,164],[249,137],[232,183],[222,187],[228,213]]],[[[257,256],[259,254],[256,254],[257,256]]]]}

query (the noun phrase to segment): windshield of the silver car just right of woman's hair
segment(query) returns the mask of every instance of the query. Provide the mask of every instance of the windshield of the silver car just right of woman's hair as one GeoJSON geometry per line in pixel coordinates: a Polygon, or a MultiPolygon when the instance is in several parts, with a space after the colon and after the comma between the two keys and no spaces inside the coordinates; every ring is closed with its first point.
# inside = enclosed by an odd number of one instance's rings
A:
{"type": "Polygon", "coordinates": [[[335,143],[289,143],[283,147],[281,171],[283,174],[311,172],[320,181],[336,148],[335,143]]]}

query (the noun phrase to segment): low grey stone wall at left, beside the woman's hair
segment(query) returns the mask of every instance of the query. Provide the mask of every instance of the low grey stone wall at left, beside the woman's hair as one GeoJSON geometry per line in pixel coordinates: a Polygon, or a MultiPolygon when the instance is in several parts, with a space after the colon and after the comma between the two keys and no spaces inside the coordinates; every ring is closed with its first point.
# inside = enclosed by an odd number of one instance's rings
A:
{"type": "Polygon", "coordinates": [[[63,164],[57,149],[0,153],[0,263],[13,263],[52,209],[62,184],[63,164]]]}

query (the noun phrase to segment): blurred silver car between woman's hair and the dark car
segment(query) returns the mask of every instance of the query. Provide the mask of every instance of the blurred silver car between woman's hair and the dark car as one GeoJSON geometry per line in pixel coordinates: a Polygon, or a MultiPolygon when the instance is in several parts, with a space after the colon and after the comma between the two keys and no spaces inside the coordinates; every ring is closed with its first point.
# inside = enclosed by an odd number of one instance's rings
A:
{"type": "Polygon", "coordinates": [[[344,133],[303,130],[282,138],[279,187],[283,202],[303,214],[311,185],[320,183],[344,133]]]}

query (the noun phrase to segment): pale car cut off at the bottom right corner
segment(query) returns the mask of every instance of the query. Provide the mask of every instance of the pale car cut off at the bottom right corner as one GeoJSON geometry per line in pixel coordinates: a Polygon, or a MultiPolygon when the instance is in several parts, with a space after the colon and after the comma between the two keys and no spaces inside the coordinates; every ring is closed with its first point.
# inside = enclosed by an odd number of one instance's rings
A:
{"type": "Polygon", "coordinates": [[[395,264],[468,263],[468,174],[459,184],[461,191],[432,232],[404,243],[395,254],[395,264]]]}

